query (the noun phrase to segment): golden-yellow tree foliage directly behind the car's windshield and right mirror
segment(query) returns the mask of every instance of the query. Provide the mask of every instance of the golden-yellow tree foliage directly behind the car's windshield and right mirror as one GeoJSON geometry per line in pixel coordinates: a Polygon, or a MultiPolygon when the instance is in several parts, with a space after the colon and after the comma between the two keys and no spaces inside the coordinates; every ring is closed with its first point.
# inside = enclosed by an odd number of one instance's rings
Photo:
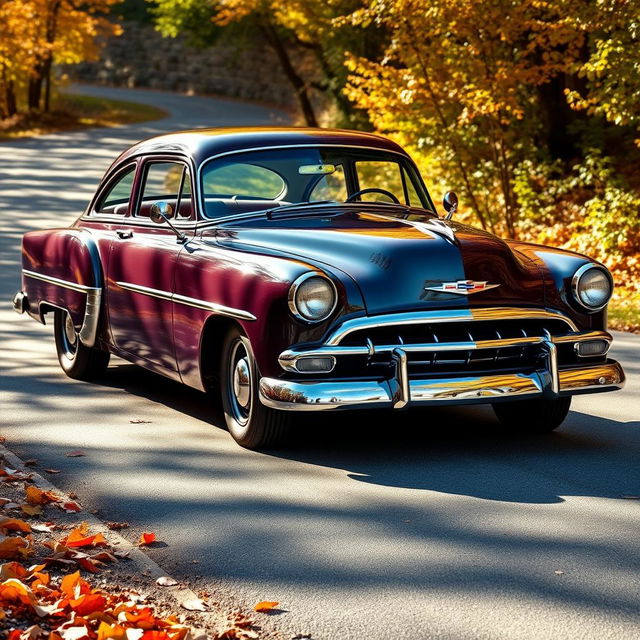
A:
{"type": "Polygon", "coordinates": [[[455,180],[484,228],[517,233],[515,167],[544,137],[537,89],[585,42],[573,0],[375,0],[349,18],[388,34],[378,60],[351,56],[348,94],[376,129],[455,180]]]}

